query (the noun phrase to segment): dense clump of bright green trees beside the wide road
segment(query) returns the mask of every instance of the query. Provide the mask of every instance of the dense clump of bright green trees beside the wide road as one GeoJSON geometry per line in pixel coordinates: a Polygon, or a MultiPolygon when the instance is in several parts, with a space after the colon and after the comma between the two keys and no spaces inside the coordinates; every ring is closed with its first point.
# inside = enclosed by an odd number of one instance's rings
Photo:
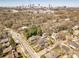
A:
{"type": "Polygon", "coordinates": [[[35,35],[42,35],[42,30],[40,26],[35,26],[33,25],[31,28],[29,29],[25,29],[25,33],[27,38],[31,37],[31,36],[35,36],[35,35]]]}

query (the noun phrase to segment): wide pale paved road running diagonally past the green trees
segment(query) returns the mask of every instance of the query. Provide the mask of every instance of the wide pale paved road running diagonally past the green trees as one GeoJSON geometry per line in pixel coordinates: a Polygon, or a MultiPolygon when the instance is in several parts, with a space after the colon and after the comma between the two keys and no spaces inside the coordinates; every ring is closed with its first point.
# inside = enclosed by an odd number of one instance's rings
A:
{"type": "Polygon", "coordinates": [[[6,30],[8,30],[8,32],[12,35],[12,37],[16,39],[17,42],[20,43],[20,45],[24,48],[25,51],[29,53],[29,55],[32,58],[40,58],[40,56],[33,50],[33,48],[29,45],[29,43],[24,38],[22,38],[22,36],[19,33],[9,28],[6,28],[6,30]]]}

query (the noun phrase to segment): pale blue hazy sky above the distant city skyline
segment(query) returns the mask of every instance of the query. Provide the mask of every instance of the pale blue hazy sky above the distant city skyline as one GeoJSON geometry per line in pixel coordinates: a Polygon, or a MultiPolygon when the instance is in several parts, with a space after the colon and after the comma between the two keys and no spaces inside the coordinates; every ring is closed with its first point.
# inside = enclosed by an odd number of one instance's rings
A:
{"type": "Polygon", "coordinates": [[[43,5],[79,7],[79,0],[0,0],[0,6],[43,5]]]}

